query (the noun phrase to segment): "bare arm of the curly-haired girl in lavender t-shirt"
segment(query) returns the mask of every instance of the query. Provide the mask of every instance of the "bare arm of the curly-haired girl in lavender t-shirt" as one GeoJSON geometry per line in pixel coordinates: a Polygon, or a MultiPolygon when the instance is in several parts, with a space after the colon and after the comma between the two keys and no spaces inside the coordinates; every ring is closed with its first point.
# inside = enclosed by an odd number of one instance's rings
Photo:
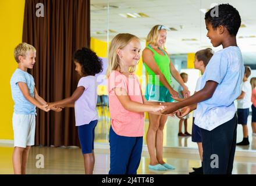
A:
{"type": "Polygon", "coordinates": [[[77,101],[77,99],[80,98],[80,96],[83,94],[83,92],[84,92],[84,87],[83,86],[77,87],[76,90],[74,91],[74,93],[72,94],[72,96],[70,96],[69,98],[62,99],[60,101],[48,103],[48,105],[49,105],[48,108],[73,107],[74,102],[77,101]]]}

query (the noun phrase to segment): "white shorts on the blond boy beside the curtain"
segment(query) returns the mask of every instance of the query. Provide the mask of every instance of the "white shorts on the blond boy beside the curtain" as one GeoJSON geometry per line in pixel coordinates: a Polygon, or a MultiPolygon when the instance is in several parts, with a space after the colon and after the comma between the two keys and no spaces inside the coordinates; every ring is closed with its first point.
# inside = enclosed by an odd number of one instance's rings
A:
{"type": "Polygon", "coordinates": [[[26,148],[26,146],[34,145],[35,115],[17,115],[13,113],[12,127],[14,146],[26,148]]]}

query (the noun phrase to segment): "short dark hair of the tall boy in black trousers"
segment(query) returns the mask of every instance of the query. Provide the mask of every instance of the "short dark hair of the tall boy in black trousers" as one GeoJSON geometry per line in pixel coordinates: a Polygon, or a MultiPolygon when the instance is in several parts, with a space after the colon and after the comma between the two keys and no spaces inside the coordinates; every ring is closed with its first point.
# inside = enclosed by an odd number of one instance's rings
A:
{"type": "Polygon", "coordinates": [[[241,17],[239,12],[228,3],[211,8],[207,13],[205,13],[205,21],[207,23],[211,23],[212,28],[216,28],[220,25],[226,27],[229,34],[233,36],[236,36],[241,26],[241,17]],[[218,15],[212,16],[214,10],[218,15]]]}

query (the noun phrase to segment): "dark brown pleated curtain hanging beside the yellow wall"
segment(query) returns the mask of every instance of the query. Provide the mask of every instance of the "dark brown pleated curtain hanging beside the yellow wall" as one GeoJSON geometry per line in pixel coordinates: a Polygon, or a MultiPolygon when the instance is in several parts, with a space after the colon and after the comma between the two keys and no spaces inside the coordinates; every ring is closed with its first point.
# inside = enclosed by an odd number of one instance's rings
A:
{"type": "MultiPolygon", "coordinates": [[[[29,73],[38,94],[47,102],[72,95],[78,82],[73,52],[90,47],[90,0],[26,0],[23,42],[37,49],[29,73]],[[37,3],[44,5],[44,17],[37,17],[37,3]]],[[[74,109],[58,113],[37,109],[35,145],[79,146],[74,109]]]]}

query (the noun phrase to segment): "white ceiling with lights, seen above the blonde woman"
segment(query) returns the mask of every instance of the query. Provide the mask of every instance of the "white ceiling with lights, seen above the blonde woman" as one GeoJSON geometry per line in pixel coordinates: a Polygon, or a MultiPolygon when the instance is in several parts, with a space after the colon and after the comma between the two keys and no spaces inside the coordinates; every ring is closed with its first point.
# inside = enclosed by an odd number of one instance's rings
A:
{"type": "MultiPolygon", "coordinates": [[[[206,37],[204,13],[200,9],[209,9],[213,3],[230,3],[239,10],[245,27],[240,28],[237,42],[244,62],[256,63],[255,0],[91,0],[91,37],[108,41],[106,31],[111,30],[109,41],[118,33],[131,33],[143,41],[152,26],[163,24],[176,29],[168,31],[166,48],[170,54],[212,48],[206,37]],[[149,17],[125,18],[119,15],[121,13],[144,13],[149,17]]],[[[216,51],[221,47],[213,49],[216,51]]]]}

